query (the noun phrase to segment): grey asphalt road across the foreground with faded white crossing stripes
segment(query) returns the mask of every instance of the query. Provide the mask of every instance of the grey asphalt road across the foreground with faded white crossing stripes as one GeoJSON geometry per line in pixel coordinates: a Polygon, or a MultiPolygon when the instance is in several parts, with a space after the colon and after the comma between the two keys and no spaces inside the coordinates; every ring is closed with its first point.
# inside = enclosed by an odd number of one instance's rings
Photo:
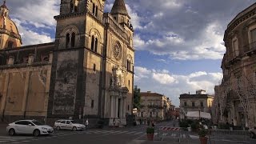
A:
{"type": "MultiPolygon", "coordinates": [[[[162,122],[155,126],[154,142],[146,141],[146,125],[131,126],[124,128],[104,128],[84,131],[55,130],[53,135],[34,137],[32,135],[16,135],[10,137],[6,133],[6,126],[0,125],[0,144],[173,144],[178,143],[179,134],[167,134],[163,141],[160,141],[158,129],[160,126],[178,127],[178,122],[162,122]]],[[[219,139],[214,143],[233,144],[230,138],[219,139]],[[225,141],[224,141],[225,140],[225,141]]],[[[179,144],[198,144],[198,134],[182,134],[179,144]]],[[[212,142],[208,142],[212,143],[212,142]]],[[[256,144],[251,141],[250,144],[256,144]]]]}

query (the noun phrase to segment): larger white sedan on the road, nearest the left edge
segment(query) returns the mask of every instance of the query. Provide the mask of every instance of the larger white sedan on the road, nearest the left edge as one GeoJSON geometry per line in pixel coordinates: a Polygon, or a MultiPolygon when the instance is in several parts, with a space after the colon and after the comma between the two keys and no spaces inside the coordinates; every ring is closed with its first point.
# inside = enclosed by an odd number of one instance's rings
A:
{"type": "Polygon", "coordinates": [[[10,123],[6,127],[6,131],[10,136],[14,134],[33,134],[37,137],[38,135],[53,134],[54,128],[36,120],[20,120],[10,123]]]}

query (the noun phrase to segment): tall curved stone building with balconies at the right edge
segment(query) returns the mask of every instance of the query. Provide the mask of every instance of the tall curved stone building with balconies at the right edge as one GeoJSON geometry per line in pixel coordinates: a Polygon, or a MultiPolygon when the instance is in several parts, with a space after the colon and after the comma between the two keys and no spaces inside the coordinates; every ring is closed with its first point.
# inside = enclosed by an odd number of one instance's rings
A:
{"type": "Polygon", "coordinates": [[[256,126],[256,3],[227,26],[223,79],[215,86],[214,122],[256,126]]]}

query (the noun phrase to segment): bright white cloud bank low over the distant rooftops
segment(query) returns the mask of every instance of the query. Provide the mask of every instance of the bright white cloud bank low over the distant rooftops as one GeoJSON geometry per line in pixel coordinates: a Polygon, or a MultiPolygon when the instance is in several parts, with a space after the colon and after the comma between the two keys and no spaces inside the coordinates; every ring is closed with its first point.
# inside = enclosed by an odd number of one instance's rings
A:
{"type": "Polygon", "coordinates": [[[152,91],[170,97],[175,106],[179,105],[179,95],[193,94],[196,90],[206,90],[214,94],[214,86],[222,80],[221,73],[198,71],[191,74],[170,74],[168,70],[149,70],[146,67],[134,67],[135,85],[142,91],[152,91]]]}

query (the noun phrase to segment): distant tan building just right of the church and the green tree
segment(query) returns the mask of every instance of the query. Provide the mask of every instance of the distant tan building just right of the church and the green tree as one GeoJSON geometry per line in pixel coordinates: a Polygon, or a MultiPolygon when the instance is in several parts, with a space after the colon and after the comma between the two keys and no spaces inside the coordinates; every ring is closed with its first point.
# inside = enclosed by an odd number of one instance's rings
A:
{"type": "Polygon", "coordinates": [[[138,119],[166,120],[169,118],[171,106],[170,99],[165,95],[141,92],[141,109],[138,111],[138,119]]]}

